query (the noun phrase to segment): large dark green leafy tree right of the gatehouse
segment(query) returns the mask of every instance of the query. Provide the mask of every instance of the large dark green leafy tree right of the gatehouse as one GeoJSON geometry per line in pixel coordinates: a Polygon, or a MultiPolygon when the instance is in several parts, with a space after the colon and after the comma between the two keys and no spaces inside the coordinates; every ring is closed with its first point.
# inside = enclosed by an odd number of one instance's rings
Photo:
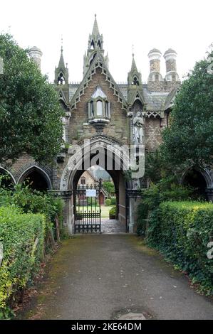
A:
{"type": "Polygon", "coordinates": [[[162,134],[160,148],[174,166],[209,165],[213,156],[212,56],[199,61],[182,83],[172,109],[171,125],[162,134]]]}

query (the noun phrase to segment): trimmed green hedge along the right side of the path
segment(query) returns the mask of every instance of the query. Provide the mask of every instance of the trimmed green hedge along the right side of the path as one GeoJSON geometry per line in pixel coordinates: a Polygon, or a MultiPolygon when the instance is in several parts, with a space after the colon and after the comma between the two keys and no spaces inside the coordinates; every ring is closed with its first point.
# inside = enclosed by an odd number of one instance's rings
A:
{"type": "Polygon", "coordinates": [[[207,244],[213,237],[213,204],[165,202],[152,211],[147,242],[185,271],[199,291],[213,294],[213,259],[207,244]]]}

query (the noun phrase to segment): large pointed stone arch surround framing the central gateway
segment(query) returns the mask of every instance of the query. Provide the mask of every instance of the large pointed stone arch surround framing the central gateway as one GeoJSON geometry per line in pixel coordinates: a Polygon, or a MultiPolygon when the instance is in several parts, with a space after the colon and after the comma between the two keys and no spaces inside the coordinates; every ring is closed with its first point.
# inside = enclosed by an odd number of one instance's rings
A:
{"type": "MultiPolygon", "coordinates": [[[[68,230],[71,233],[75,232],[75,213],[77,212],[77,202],[78,194],[76,190],[79,186],[79,181],[83,181],[83,173],[91,168],[91,166],[99,166],[103,170],[107,171],[110,178],[113,180],[115,185],[115,206],[116,206],[116,217],[120,226],[122,226],[122,231],[128,232],[128,197],[126,195],[127,189],[131,188],[130,182],[125,177],[125,162],[128,161],[125,153],[120,153],[120,147],[116,146],[116,151],[110,143],[110,148],[108,147],[108,142],[103,141],[103,136],[101,140],[95,138],[94,141],[90,141],[88,146],[92,146],[93,150],[88,149],[85,146],[78,146],[77,149],[73,149],[74,153],[70,157],[66,168],[63,171],[61,177],[61,191],[66,192],[71,191],[70,200],[66,198],[66,220],[65,223],[68,224],[68,230]],[[95,144],[95,149],[93,144],[95,144]],[[112,150],[112,151],[110,151],[112,150]],[[96,153],[98,152],[98,153],[96,153]]],[[[81,185],[83,188],[83,184],[81,185]]],[[[81,193],[82,196],[85,196],[81,193]]],[[[85,196],[86,197],[86,196],[85,196]]],[[[81,198],[81,200],[85,198],[81,198]]],[[[79,216],[77,216],[78,218],[79,216]]],[[[79,231],[78,231],[79,232],[79,231]]],[[[103,231],[102,231],[103,232],[103,231]]],[[[119,232],[119,231],[116,231],[119,232]]]]}

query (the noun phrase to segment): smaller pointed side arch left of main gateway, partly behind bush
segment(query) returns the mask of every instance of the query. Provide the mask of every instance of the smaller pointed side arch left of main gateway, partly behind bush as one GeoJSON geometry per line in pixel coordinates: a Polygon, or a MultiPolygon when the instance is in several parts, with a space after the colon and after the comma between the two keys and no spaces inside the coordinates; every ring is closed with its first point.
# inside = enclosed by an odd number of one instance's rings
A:
{"type": "Polygon", "coordinates": [[[51,190],[52,189],[51,179],[48,176],[48,173],[46,173],[46,171],[44,171],[41,167],[38,167],[36,165],[26,168],[26,170],[19,177],[18,183],[23,183],[26,178],[31,176],[31,174],[34,174],[34,177],[36,176],[35,179],[39,181],[39,185],[38,186],[35,185],[35,187],[33,188],[35,189],[38,188],[38,190],[51,190]],[[42,183],[42,178],[43,178],[43,181],[45,181],[43,182],[43,189],[41,189],[41,185],[40,185],[40,182],[42,183]]]}

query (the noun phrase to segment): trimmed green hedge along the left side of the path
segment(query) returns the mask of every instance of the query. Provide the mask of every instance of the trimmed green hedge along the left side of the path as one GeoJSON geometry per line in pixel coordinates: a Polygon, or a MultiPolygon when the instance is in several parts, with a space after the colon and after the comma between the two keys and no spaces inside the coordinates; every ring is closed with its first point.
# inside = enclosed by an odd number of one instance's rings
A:
{"type": "Polygon", "coordinates": [[[33,278],[43,258],[46,217],[25,214],[13,206],[0,208],[0,242],[4,258],[0,266],[0,318],[17,291],[33,278]]]}

